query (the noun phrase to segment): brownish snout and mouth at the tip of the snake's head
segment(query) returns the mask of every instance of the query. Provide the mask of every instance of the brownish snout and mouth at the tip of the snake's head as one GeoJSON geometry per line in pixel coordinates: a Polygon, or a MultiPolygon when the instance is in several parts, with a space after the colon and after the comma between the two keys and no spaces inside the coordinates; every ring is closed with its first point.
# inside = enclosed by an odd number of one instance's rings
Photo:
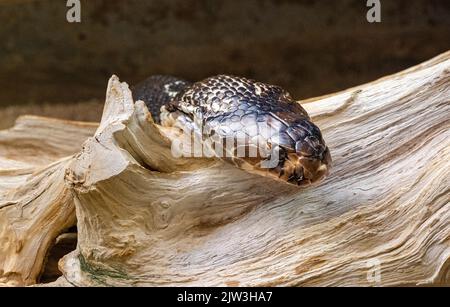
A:
{"type": "Polygon", "coordinates": [[[331,168],[331,155],[328,147],[319,156],[304,156],[289,153],[281,165],[274,169],[278,178],[290,184],[308,186],[321,182],[331,168]]]}

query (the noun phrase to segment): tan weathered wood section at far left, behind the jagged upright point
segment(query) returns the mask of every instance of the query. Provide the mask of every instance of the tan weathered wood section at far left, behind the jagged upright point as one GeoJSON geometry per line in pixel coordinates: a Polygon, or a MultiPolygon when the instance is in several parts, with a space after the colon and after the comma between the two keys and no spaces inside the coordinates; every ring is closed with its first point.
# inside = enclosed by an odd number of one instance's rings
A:
{"type": "Polygon", "coordinates": [[[0,283],[35,283],[56,237],[75,225],[65,168],[97,126],[25,116],[0,132],[0,283]]]}

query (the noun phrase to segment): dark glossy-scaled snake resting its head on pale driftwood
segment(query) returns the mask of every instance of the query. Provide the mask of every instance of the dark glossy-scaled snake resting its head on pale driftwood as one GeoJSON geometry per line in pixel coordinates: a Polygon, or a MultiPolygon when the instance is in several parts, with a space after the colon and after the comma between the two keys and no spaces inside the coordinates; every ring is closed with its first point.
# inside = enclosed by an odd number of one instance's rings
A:
{"type": "Polygon", "coordinates": [[[153,75],[131,90],[156,124],[194,133],[242,170],[301,187],[329,173],[321,130],[280,86],[232,75],[198,82],[153,75]]]}

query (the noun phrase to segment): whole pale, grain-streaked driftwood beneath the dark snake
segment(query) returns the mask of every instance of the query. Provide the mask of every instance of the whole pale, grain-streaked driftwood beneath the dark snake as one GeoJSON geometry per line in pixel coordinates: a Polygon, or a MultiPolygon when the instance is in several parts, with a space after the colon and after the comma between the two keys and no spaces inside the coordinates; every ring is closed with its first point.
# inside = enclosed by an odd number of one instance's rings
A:
{"type": "Polygon", "coordinates": [[[39,282],[77,224],[51,285],[449,285],[450,52],[302,103],[334,161],[306,189],[174,158],[179,131],[117,77],[99,126],[20,118],[0,132],[0,283],[39,282]]]}

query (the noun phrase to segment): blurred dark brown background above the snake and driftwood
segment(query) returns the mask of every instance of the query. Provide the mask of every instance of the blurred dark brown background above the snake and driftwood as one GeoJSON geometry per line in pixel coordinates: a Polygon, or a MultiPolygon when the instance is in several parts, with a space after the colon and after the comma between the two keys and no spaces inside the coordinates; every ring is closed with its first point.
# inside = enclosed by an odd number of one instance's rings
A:
{"type": "Polygon", "coordinates": [[[98,121],[111,74],[228,73],[309,98],[450,49],[449,0],[0,0],[0,128],[20,114],[98,121]]]}

